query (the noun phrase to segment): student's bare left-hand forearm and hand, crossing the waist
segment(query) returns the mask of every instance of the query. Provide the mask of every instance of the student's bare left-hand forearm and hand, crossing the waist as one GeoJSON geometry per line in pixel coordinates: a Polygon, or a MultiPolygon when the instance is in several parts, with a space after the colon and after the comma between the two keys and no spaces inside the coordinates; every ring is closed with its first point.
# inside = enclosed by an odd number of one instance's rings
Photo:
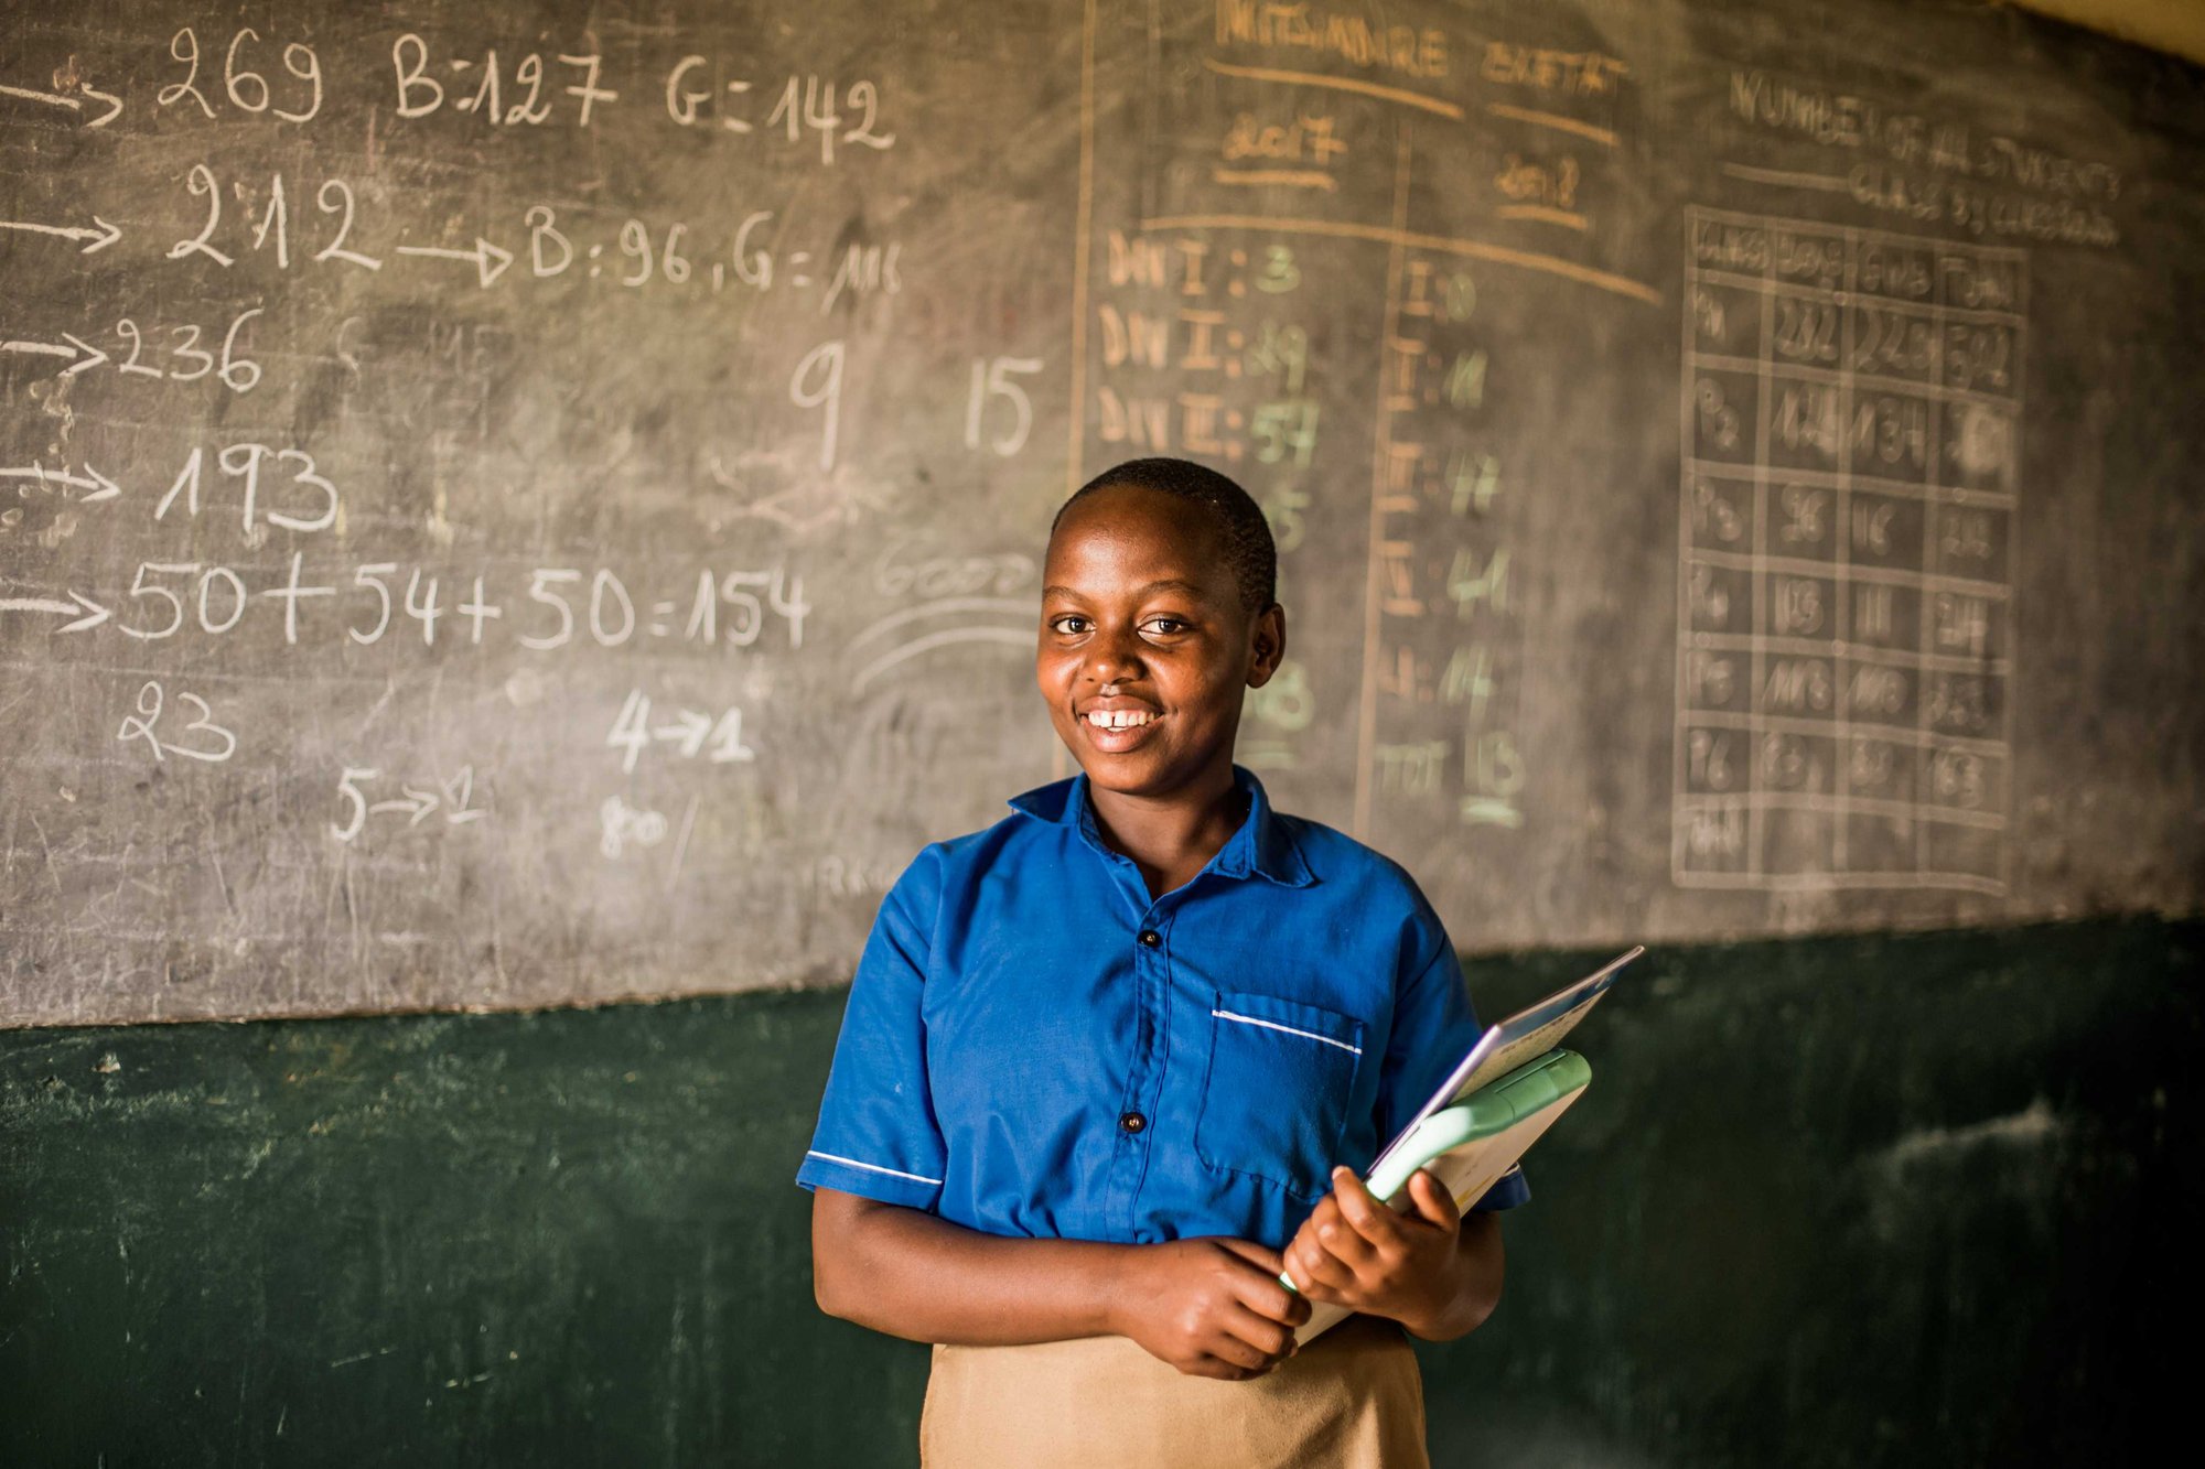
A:
{"type": "Polygon", "coordinates": [[[820,1310],[911,1341],[1131,1337],[1180,1372],[1248,1379],[1279,1365],[1310,1315],[1279,1268],[1277,1251],[1248,1240],[1010,1240],[838,1189],[811,1193],[820,1310]]]}

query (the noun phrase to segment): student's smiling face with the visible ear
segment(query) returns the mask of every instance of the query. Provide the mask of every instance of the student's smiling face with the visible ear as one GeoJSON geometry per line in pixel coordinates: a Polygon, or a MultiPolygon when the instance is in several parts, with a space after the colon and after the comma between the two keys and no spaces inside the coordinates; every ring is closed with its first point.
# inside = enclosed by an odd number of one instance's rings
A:
{"type": "Polygon", "coordinates": [[[1074,503],[1050,536],[1034,677],[1087,779],[1125,796],[1230,785],[1241,695],[1270,682],[1286,613],[1250,613],[1211,514],[1138,485],[1074,503]]]}

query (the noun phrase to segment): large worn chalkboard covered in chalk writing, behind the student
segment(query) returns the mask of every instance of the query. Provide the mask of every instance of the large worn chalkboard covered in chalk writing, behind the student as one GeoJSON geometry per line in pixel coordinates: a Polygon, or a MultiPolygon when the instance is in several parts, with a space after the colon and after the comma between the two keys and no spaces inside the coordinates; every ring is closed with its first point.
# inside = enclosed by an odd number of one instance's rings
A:
{"type": "Polygon", "coordinates": [[[1471,951],[2194,909],[2205,82],[2011,11],[24,4],[0,1023],[820,984],[1047,518],[1471,951]]]}

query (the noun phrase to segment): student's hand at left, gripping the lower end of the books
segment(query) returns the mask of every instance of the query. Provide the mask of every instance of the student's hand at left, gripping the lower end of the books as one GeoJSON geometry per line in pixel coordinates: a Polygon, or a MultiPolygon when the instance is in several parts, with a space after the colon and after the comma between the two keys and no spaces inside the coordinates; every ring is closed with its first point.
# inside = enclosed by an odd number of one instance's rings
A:
{"type": "Polygon", "coordinates": [[[1294,1348],[1310,1304],[1279,1284],[1279,1253],[1248,1240],[1136,1246],[1118,1290],[1118,1334],[1188,1376],[1244,1381],[1294,1348]]]}

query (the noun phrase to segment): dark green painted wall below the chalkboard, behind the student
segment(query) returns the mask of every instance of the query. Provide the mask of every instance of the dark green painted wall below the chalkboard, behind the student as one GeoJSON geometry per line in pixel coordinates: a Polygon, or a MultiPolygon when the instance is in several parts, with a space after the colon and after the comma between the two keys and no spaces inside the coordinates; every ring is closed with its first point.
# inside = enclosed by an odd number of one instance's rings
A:
{"type": "MultiPolygon", "coordinates": [[[[2201,955],[1649,955],[1499,1315],[1427,1354],[1435,1460],[2139,1456],[2187,1387],[2145,1326],[2198,1290],[2201,955]]],[[[913,1462],[926,1350],[814,1312],[789,1184],[840,1008],[0,1034],[0,1465],[913,1462]]]]}

